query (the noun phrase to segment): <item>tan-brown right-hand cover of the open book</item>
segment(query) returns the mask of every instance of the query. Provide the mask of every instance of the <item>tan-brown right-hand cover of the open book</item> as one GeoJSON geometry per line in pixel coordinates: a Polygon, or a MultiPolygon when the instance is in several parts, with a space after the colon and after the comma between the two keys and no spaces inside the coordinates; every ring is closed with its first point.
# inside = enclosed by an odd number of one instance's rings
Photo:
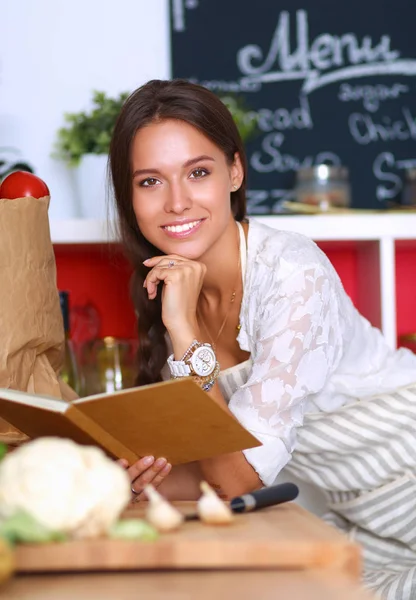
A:
{"type": "Polygon", "coordinates": [[[190,378],[76,400],[73,405],[137,456],[181,464],[261,443],[190,378]]]}

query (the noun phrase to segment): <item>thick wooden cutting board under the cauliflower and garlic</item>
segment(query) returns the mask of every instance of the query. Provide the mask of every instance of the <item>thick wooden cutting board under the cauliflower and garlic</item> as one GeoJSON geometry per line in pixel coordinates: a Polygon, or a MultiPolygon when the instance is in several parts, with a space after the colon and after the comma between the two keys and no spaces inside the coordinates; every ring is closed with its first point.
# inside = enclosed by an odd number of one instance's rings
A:
{"type": "MultiPolygon", "coordinates": [[[[143,508],[125,513],[142,515],[143,508]]],[[[359,547],[294,503],[236,515],[229,525],[186,521],[156,542],[100,538],[21,545],[16,554],[18,572],[324,568],[354,578],[361,572],[359,547]]]]}

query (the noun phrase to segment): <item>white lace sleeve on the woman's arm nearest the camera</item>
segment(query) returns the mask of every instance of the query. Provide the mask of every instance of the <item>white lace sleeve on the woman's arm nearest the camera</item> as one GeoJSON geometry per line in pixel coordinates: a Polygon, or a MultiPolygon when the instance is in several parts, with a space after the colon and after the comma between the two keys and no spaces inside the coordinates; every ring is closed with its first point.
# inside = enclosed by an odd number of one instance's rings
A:
{"type": "Polygon", "coordinates": [[[229,408],[262,442],[244,454],[271,485],[290,459],[308,395],[324,387],[339,362],[342,335],[336,293],[322,264],[297,268],[278,283],[274,276],[261,288],[267,294],[250,311],[256,314],[252,371],[229,408]]]}

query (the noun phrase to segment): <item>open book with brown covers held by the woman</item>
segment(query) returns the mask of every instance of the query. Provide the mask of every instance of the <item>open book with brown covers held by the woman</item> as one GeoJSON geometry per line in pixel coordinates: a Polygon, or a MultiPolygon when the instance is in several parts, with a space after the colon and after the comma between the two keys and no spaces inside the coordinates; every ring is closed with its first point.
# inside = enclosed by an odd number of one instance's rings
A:
{"type": "Polygon", "coordinates": [[[0,417],[29,438],[70,438],[130,464],[147,455],[187,463],[261,445],[188,378],[70,403],[0,388],[0,417]]]}

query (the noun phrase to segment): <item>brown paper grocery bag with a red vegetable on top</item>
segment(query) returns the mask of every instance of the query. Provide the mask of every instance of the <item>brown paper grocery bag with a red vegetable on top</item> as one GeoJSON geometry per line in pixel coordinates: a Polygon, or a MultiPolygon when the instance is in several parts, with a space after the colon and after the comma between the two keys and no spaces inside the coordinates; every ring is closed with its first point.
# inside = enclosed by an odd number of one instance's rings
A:
{"type": "MultiPolygon", "coordinates": [[[[0,199],[0,387],[64,397],[64,329],[49,197],[0,199]]],[[[0,440],[26,437],[1,419],[0,440]]]]}

